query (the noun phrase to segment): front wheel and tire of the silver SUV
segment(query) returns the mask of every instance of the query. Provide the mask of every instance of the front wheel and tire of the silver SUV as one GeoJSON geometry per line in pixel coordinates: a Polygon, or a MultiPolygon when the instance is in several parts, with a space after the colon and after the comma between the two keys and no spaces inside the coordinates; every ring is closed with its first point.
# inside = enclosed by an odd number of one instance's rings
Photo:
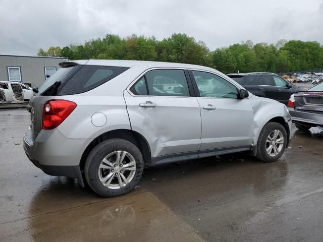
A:
{"type": "Polygon", "coordinates": [[[279,123],[268,122],[260,132],[256,157],[264,162],[277,161],[284,153],[287,139],[284,126],[279,123]],[[276,131],[278,135],[275,138],[276,131]],[[281,138],[283,139],[281,140],[281,138]],[[275,142],[273,142],[274,140],[275,142]]]}

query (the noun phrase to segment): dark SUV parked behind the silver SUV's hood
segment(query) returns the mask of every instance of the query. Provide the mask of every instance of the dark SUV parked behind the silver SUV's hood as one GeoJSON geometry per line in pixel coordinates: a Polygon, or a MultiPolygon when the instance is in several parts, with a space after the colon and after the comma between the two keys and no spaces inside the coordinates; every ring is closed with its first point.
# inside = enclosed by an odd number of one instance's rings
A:
{"type": "Polygon", "coordinates": [[[275,99],[287,105],[290,96],[300,89],[275,73],[228,74],[228,77],[259,97],[275,99]]]}

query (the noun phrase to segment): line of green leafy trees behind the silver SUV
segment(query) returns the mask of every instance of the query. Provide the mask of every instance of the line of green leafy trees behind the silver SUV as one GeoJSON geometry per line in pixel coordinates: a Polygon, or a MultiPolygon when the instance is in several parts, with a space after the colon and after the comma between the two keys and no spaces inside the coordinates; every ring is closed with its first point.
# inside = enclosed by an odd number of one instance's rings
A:
{"type": "Polygon", "coordinates": [[[248,72],[289,73],[323,69],[323,46],[316,41],[279,40],[253,44],[251,40],[211,51],[203,41],[183,33],[157,40],[154,36],[121,38],[107,34],[84,44],[39,49],[38,56],[74,59],[135,59],[208,66],[225,74],[248,72]]]}

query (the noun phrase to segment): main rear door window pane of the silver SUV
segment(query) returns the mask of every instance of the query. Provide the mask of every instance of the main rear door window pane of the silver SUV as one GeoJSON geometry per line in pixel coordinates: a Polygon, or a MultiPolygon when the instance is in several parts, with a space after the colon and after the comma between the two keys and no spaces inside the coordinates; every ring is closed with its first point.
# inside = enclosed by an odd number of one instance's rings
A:
{"type": "Polygon", "coordinates": [[[152,70],[145,74],[151,96],[189,96],[183,70],[152,70]]]}

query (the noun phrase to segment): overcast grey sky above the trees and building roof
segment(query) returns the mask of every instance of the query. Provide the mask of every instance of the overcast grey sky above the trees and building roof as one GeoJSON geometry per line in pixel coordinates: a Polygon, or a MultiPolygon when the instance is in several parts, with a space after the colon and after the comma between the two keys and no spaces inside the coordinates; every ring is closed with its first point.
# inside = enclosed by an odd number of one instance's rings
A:
{"type": "Polygon", "coordinates": [[[323,0],[0,0],[0,54],[36,55],[106,33],[156,36],[174,32],[211,49],[251,39],[323,43],[323,0]]]}

